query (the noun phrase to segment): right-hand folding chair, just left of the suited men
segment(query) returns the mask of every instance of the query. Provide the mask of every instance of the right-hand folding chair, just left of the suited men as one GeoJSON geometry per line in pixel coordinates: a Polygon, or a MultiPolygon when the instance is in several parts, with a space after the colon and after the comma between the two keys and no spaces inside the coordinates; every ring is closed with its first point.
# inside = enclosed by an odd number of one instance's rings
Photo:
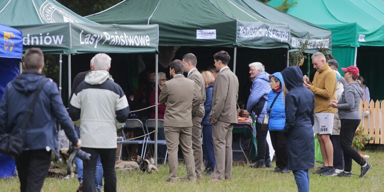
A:
{"type": "MultiPolygon", "coordinates": [[[[157,127],[158,127],[158,139],[157,140],[157,144],[158,145],[165,145],[166,146],[166,141],[165,141],[165,135],[164,135],[164,120],[162,119],[158,119],[157,120],[157,127]],[[164,138],[164,139],[163,139],[164,138]]],[[[156,119],[148,119],[145,121],[145,129],[146,129],[146,133],[150,133],[150,131],[154,131],[156,128],[156,119]]],[[[148,135],[148,137],[146,138],[146,144],[145,144],[145,150],[144,150],[144,154],[146,152],[146,148],[148,146],[148,144],[153,144],[155,145],[155,141],[151,139],[151,136],[155,137],[155,133],[152,133],[151,135],[148,135]]],[[[168,150],[166,150],[165,152],[165,157],[164,157],[164,164],[165,164],[165,161],[167,159],[167,155],[168,155],[168,150]]]]}

